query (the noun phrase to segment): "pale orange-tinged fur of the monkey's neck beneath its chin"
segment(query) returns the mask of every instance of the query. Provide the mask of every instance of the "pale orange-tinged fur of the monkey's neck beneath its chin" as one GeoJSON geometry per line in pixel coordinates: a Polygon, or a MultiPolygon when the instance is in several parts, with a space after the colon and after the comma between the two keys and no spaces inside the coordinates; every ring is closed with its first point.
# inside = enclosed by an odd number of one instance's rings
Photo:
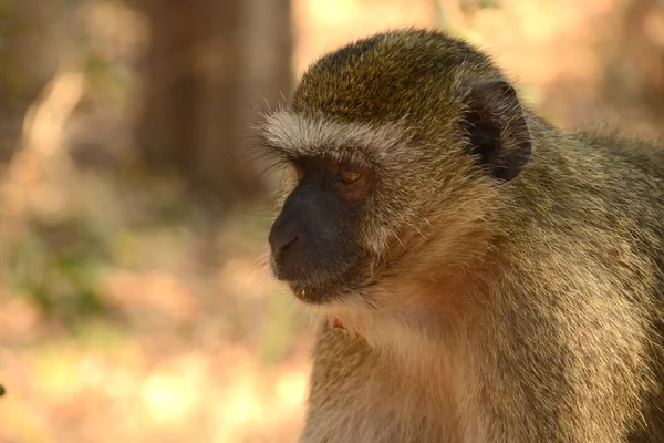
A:
{"type": "Polygon", "coordinates": [[[481,282],[471,276],[439,281],[406,281],[386,285],[372,293],[378,307],[363,298],[324,308],[340,333],[360,336],[380,352],[397,356],[408,368],[432,364],[430,356],[464,341],[477,321],[481,282]],[[378,292],[380,291],[380,292],[378,292]]]}

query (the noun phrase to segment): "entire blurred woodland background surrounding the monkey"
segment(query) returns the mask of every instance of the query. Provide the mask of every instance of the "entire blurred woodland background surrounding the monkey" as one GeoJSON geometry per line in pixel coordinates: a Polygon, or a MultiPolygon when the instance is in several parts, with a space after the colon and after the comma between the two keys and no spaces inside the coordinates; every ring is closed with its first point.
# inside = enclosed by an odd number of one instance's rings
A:
{"type": "Polygon", "coordinates": [[[313,326],[266,266],[250,127],[404,25],[559,125],[664,133],[661,0],[0,0],[0,442],[295,439],[313,326]]]}

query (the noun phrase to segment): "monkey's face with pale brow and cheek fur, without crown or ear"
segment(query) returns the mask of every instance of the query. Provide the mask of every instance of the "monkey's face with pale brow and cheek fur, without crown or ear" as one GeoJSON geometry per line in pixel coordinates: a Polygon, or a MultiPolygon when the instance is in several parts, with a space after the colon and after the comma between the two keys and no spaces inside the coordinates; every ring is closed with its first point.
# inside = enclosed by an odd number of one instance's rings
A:
{"type": "Polygon", "coordinates": [[[269,236],[272,268],[308,303],[392,305],[384,298],[391,280],[419,278],[430,262],[469,250],[459,224],[483,219],[474,207],[490,207],[489,196],[476,198],[469,186],[478,174],[469,173],[475,165],[463,153],[460,128],[445,152],[397,122],[281,110],[262,128],[287,173],[269,236]]]}

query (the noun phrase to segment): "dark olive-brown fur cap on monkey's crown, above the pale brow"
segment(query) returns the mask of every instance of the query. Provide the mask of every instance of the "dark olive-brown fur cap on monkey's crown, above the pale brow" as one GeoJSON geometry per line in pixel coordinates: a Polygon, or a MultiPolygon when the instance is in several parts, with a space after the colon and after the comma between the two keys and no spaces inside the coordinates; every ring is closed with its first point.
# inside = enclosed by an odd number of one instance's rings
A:
{"type": "Polygon", "coordinates": [[[380,33],[313,63],[292,100],[301,114],[324,112],[351,122],[453,115],[459,93],[474,79],[497,78],[489,58],[440,32],[380,33]]]}

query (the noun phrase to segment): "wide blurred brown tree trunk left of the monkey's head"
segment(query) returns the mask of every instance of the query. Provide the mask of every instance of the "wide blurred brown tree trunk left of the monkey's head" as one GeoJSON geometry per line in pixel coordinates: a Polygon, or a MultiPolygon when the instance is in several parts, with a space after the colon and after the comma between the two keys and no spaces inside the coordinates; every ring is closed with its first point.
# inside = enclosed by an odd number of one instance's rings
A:
{"type": "Polygon", "coordinates": [[[226,205],[259,195],[249,126],[291,87],[290,0],[145,6],[152,48],[138,140],[149,164],[176,168],[226,205]]]}

